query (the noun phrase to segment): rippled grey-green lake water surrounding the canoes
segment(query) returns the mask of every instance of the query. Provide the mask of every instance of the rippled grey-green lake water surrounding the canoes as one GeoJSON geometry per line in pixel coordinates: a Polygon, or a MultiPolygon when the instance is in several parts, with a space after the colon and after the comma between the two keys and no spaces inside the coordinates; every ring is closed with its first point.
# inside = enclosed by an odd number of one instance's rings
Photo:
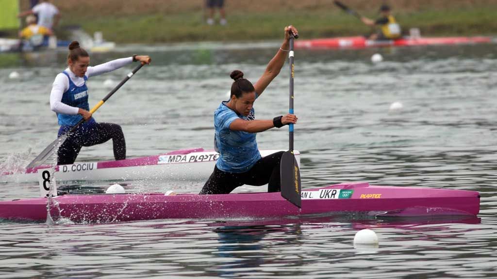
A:
{"type": "MultiPolygon", "coordinates": [[[[243,70],[255,82],[277,48],[277,42],[134,45],[93,54],[92,65],[135,53],[153,58],[95,118],[122,126],[128,157],[210,149],[213,111],[227,99],[230,71],[243,70]]],[[[367,181],[474,190],[482,196],[478,217],[1,221],[0,278],[496,278],[496,51],[496,45],[299,50],[295,58],[295,148],[304,188],[367,181]],[[384,62],[372,64],[374,53],[384,62]],[[391,110],[394,102],[403,108],[391,110]],[[379,247],[354,248],[363,228],[377,233],[379,247]]],[[[0,54],[2,171],[26,165],[55,137],[49,94],[66,55],[0,54]],[[20,77],[10,79],[12,71],[20,77]]],[[[132,67],[91,78],[90,105],[112,89],[108,79],[117,84],[132,67]]],[[[288,110],[287,65],[255,110],[259,119],[288,110]]],[[[286,131],[259,134],[259,147],[287,148],[286,131]]],[[[112,157],[107,142],[83,148],[78,160],[112,157]]],[[[196,193],[202,185],[126,187],[196,193]]],[[[2,200],[38,192],[35,183],[0,185],[2,200]]]]}

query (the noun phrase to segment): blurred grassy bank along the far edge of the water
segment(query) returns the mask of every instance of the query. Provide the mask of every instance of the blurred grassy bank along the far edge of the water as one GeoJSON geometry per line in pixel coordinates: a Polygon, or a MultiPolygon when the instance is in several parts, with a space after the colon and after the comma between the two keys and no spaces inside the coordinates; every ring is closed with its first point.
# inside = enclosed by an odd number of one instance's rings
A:
{"type": "MultiPolygon", "coordinates": [[[[226,0],[227,26],[204,24],[203,0],[54,0],[64,25],[102,31],[118,43],[182,41],[243,41],[278,39],[286,24],[299,28],[303,38],[353,36],[371,32],[356,18],[337,9],[331,0],[226,0]],[[124,4],[122,4],[124,3],[124,4]],[[281,3],[285,3],[284,6],[281,3]]],[[[345,1],[366,16],[378,16],[383,1],[345,1]]],[[[494,35],[495,0],[397,0],[394,14],[404,30],[418,27],[423,36],[494,35]]]]}

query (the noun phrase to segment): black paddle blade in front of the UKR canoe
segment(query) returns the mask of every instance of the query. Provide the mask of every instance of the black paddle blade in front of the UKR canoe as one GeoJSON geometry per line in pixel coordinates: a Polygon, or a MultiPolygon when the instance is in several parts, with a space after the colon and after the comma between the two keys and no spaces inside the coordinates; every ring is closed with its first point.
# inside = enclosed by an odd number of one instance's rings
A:
{"type": "Polygon", "coordinates": [[[301,208],[301,182],[300,170],[295,155],[292,151],[286,151],[281,156],[281,196],[301,208]]]}

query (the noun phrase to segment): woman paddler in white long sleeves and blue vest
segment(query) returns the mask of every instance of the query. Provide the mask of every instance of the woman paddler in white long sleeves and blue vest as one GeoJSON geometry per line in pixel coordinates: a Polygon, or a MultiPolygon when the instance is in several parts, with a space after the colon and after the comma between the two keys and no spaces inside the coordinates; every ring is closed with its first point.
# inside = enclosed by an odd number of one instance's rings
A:
{"type": "Polygon", "coordinates": [[[89,77],[117,70],[131,62],[150,63],[148,56],[136,56],[116,59],[104,64],[90,67],[88,53],[73,41],[69,45],[68,68],[57,74],[50,93],[50,108],[57,113],[59,120],[58,136],[67,133],[81,118],[86,120],[78,126],[60,147],[57,154],[57,164],[73,164],[82,146],[92,146],[113,141],[114,157],[116,160],[126,159],[126,142],[122,129],[117,124],[97,123],[89,112],[88,88],[86,80],[89,77]]]}

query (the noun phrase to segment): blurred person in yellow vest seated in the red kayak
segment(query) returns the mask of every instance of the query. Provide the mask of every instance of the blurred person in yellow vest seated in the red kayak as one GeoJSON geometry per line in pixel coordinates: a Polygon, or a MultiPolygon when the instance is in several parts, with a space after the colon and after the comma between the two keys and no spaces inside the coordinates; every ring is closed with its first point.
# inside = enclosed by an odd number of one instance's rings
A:
{"type": "Polygon", "coordinates": [[[401,27],[395,20],[395,17],[390,13],[390,7],[384,4],[380,7],[380,12],[382,16],[376,21],[365,16],[361,16],[361,20],[364,24],[369,26],[378,26],[380,28],[379,32],[371,34],[369,39],[395,40],[400,38],[402,36],[401,27]]]}

